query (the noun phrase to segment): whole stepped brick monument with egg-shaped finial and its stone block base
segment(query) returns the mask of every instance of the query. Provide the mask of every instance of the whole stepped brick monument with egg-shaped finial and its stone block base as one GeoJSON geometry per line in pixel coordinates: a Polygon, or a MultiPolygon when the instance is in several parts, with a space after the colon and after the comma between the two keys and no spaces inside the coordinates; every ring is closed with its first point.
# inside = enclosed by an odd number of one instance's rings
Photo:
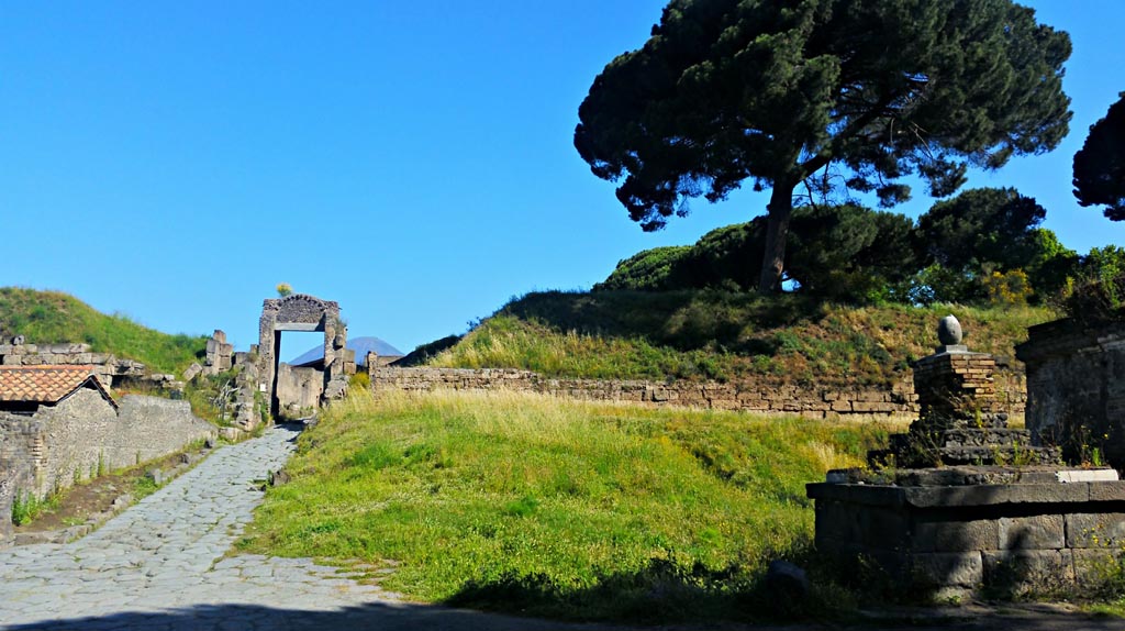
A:
{"type": "Polygon", "coordinates": [[[808,485],[817,550],[868,559],[915,596],[1080,591],[1119,576],[1125,483],[1108,468],[1063,468],[1058,449],[1008,429],[996,360],[960,336],[942,342],[915,364],[920,417],[868,454],[890,467],[808,485]]]}

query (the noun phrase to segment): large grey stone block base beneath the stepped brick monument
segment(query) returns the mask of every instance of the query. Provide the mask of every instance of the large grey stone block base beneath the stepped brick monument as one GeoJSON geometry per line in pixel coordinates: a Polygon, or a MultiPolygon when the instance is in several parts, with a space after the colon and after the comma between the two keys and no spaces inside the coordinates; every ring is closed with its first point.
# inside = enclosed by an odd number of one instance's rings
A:
{"type": "Polygon", "coordinates": [[[817,484],[809,496],[819,552],[862,555],[915,596],[1077,592],[1108,578],[1125,544],[1125,483],[817,484]]]}

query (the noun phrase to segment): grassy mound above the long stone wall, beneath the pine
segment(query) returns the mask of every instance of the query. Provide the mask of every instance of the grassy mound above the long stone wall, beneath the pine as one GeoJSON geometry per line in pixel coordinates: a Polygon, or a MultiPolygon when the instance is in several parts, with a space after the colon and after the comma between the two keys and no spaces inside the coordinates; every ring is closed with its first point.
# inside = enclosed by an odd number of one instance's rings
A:
{"type": "Polygon", "coordinates": [[[933,352],[953,313],[971,350],[1014,357],[1042,307],[848,307],[800,296],[685,290],[546,291],[502,307],[431,360],[557,377],[886,385],[933,352]]]}

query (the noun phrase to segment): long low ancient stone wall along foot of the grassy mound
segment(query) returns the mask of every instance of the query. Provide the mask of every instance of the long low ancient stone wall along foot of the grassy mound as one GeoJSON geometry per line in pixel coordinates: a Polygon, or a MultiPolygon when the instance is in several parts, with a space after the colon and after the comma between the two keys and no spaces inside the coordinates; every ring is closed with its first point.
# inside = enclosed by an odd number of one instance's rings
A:
{"type": "MultiPolygon", "coordinates": [[[[810,418],[848,415],[914,416],[917,397],[909,382],[893,387],[832,388],[762,382],[619,381],[556,379],[525,370],[456,368],[384,368],[369,366],[375,390],[511,389],[591,400],[620,400],[651,405],[741,409],[763,414],[796,414],[810,418]]],[[[998,379],[998,397],[1018,416],[1023,412],[1023,380],[1018,375],[998,379]]]]}

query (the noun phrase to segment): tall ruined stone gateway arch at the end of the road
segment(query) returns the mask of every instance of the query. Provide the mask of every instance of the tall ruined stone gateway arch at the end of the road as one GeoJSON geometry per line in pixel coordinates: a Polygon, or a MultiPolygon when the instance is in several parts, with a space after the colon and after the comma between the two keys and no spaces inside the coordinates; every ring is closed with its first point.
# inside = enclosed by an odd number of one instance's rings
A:
{"type": "Polygon", "coordinates": [[[348,327],[340,319],[340,305],[306,294],[267,298],[258,323],[259,391],[269,397],[270,414],[280,412],[278,373],[281,332],[324,333],[323,395],[321,403],[343,396],[348,378],[356,373],[356,353],[348,350],[348,327]]]}

